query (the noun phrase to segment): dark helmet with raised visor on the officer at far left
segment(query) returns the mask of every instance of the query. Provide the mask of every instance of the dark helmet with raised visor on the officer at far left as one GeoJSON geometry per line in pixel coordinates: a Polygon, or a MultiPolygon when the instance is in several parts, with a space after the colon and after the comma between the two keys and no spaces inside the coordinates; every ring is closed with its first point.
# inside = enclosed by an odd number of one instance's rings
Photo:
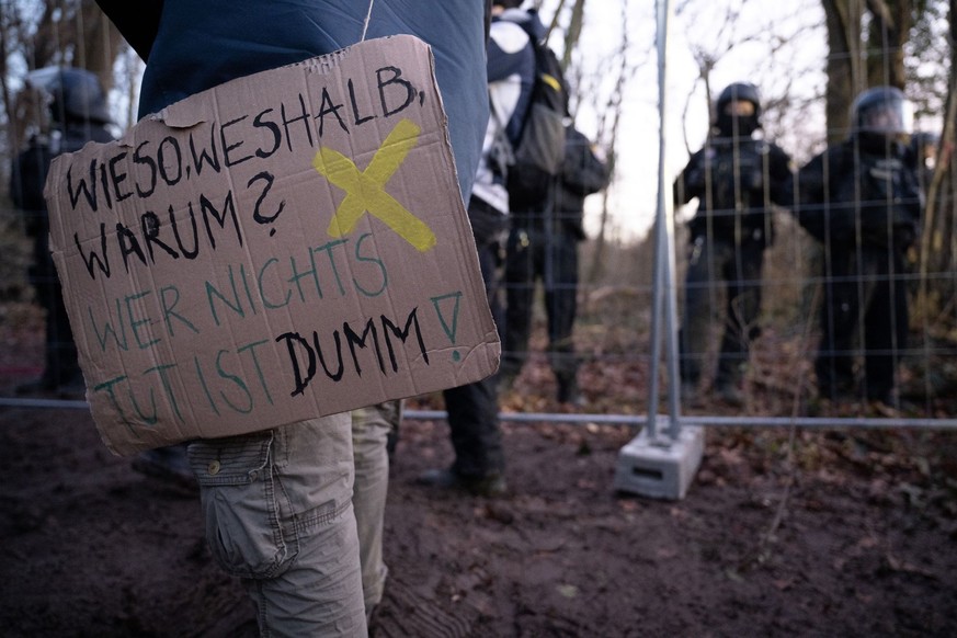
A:
{"type": "Polygon", "coordinates": [[[100,79],[86,69],[45,67],[31,71],[27,81],[49,95],[54,124],[112,122],[100,79]]]}

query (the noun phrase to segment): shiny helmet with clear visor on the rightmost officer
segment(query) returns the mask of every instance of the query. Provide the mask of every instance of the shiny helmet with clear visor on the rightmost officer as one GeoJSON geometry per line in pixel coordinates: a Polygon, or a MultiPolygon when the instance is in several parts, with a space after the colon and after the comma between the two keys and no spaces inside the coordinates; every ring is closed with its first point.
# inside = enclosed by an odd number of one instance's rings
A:
{"type": "Polygon", "coordinates": [[[851,105],[851,136],[875,143],[907,143],[913,129],[913,106],[896,87],[874,87],[851,105]]]}

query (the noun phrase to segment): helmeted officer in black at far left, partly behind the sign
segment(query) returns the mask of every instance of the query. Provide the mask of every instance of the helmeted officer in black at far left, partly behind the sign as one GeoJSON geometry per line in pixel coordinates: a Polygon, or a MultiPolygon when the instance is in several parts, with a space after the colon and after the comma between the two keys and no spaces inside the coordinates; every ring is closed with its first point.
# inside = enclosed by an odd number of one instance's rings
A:
{"type": "Polygon", "coordinates": [[[111,123],[106,94],[90,71],[47,67],[32,71],[27,82],[49,102],[49,133],[34,135],[13,161],[10,192],[21,209],[26,233],[33,239],[30,282],[46,311],[46,353],[42,376],[21,386],[19,394],[59,391],[70,396],[84,391],[77,346],[70,331],[62,290],[49,252],[49,218],[43,186],[49,163],[62,152],[80,150],[88,141],[110,141],[111,123]]]}

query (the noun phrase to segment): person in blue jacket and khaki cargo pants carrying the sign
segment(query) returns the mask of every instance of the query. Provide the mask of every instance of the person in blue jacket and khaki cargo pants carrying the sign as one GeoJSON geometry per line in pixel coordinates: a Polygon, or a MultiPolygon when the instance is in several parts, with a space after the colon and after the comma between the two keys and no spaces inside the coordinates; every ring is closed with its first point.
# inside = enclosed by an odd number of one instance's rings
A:
{"type": "MultiPolygon", "coordinates": [[[[407,33],[432,46],[468,201],[488,122],[488,2],[98,0],[146,60],[139,116],[237,77],[407,33]],[[366,29],[367,26],[367,29],[366,29]]],[[[243,579],[263,636],[364,636],[352,419],[193,442],[206,536],[243,579]]]]}

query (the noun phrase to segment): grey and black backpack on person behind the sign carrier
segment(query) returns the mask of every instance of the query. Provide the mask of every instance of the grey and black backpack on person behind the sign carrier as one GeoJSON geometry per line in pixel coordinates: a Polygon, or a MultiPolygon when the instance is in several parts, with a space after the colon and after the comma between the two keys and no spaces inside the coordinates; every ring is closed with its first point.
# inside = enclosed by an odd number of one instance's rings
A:
{"type": "Polygon", "coordinates": [[[561,65],[555,52],[535,37],[532,47],[535,82],[505,171],[509,207],[513,210],[543,207],[565,157],[568,92],[561,65]]]}

